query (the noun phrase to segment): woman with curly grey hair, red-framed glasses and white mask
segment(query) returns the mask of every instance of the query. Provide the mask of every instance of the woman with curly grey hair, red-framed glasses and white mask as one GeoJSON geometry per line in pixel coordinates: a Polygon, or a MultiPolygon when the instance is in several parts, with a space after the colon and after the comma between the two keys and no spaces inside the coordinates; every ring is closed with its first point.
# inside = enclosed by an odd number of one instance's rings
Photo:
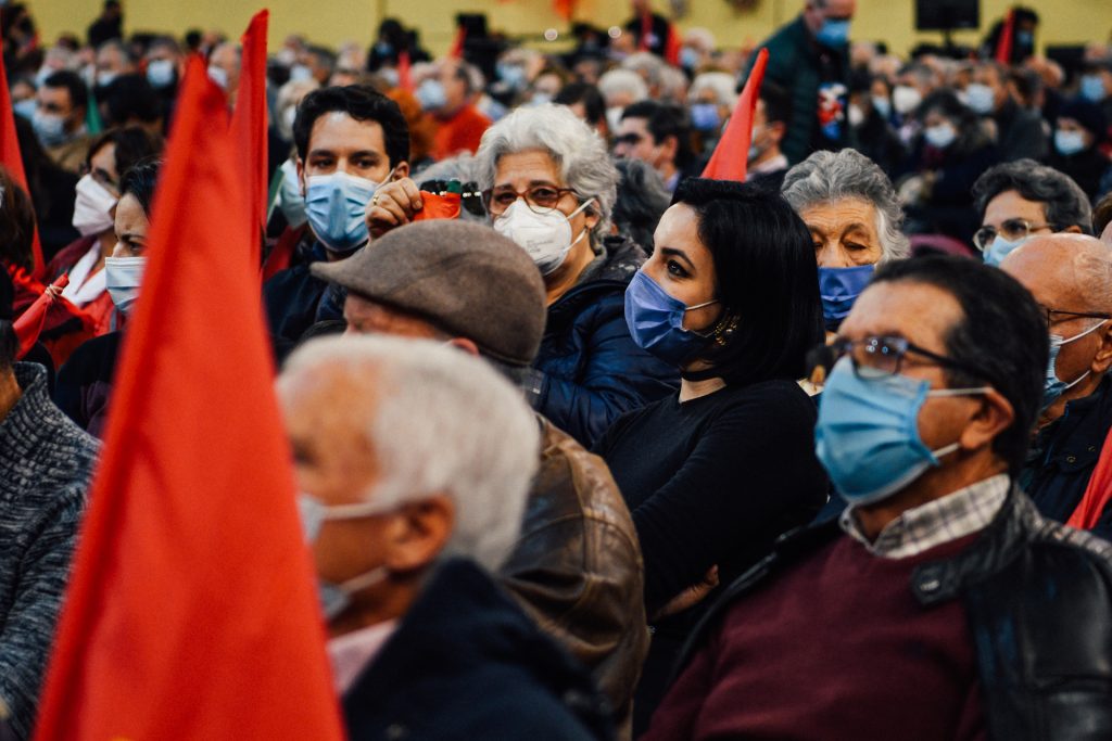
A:
{"type": "Polygon", "coordinates": [[[510,113],[484,134],[476,160],[492,226],[529,253],[548,291],[527,391],[537,411],[589,445],[678,381],[626,326],[625,289],[646,254],[610,236],[618,172],[598,134],[563,106],[510,113]]]}

